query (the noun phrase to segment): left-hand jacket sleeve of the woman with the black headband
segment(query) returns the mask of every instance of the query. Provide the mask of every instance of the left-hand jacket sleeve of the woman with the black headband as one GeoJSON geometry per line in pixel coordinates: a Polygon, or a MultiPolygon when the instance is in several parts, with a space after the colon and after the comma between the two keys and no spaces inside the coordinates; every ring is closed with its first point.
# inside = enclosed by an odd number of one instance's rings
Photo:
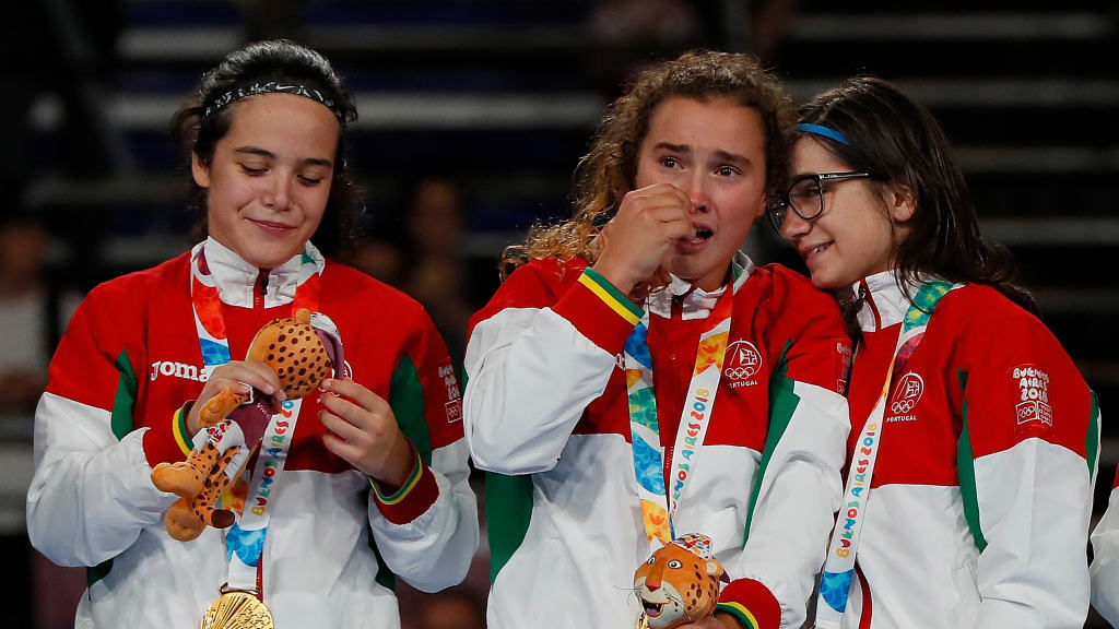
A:
{"type": "Polygon", "coordinates": [[[60,565],[113,558],[145,526],[161,523],[177,499],[151,482],[143,448],[149,429],[132,430],[138,356],[122,348],[135,330],[122,322],[116,299],[102,285],[78,307],[35,412],[27,531],[31,544],[60,565]]]}

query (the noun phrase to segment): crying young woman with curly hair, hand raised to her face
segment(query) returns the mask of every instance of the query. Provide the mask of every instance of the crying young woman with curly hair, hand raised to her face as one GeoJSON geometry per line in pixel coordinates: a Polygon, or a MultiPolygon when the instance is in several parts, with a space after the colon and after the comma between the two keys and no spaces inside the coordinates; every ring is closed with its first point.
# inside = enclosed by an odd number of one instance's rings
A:
{"type": "Polygon", "coordinates": [[[466,354],[492,629],[664,626],[667,590],[634,595],[633,571],[689,533],[740,581],[688,628],[805,620],[838,506],[849,339],[827,294],[739,253],[792,123],[752,57],[646,68],[579,167],[575,217],[510,252],[466,354]]]}

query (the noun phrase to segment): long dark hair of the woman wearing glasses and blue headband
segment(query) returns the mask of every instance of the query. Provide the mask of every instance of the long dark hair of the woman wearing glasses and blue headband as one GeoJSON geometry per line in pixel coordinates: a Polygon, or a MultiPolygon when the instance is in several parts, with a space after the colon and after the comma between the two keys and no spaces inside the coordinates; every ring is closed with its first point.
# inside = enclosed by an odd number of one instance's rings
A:
{"type": "MultiPolygon", "coordinates": [[[[932,113],[896,85],[876,77],[848,78],[800,107],[800,122],[838,131],[846,144],[812,135],[852,170],[871,172],[880,186],[912,195],[910,233],[895,253],[904,294],[924,274],[987,284],[1033,313],[1033,297],[1015,283],[1010,252],[979,233],[975,205],[951,147],[932,113]]],[[[839,295],[845,313],[854,307],[839,295]]]]}

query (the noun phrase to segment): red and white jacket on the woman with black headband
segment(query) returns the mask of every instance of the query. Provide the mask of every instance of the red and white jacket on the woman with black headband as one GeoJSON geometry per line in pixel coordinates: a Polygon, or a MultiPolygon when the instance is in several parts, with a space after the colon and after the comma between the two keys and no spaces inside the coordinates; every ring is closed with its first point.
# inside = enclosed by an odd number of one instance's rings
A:
{"type": "MultiPolygon", "coordinates": [[[[205,246],[231,355],[243,357],[263,323],[291,316],[300,256],[271,270],[263,292],[257,269],[205,246]]],[[[150,478],[185,458],[172,415],[203,388],[188,256],[88,294],[36,412],[28,532],[51,561],[91,566],[78,627],[196,627],[226,581],[222,533],[170,538],[176,496],[150,478]]],[[[323,447],[321,406],[304,398],[270,496],[264,602],[278,628],[399,627],[395,595],[375,581],[382,566],[434,591],[462,580],[478,544],[458,385],[431,320],[403,293],[328,261],[319,310],[338,326],[351,377],[391,403],[420,478],[403,496],[370,490],[323,447]]]]}

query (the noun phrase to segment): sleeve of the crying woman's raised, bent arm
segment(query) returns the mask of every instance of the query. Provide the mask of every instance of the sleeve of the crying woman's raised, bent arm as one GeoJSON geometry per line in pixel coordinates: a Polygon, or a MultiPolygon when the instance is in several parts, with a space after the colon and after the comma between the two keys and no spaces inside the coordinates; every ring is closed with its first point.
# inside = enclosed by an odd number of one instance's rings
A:
{"type": "Polygon", "coordinates": [[[592,271],[553,307],[543,306],[528,298],[544,292],[533,271],[520,269],[506,281],[467,345],[470,456],[480,469],[504,475],[555,467],[583,411],[605,391],[615,355],[640,318],[592,271]]]}

